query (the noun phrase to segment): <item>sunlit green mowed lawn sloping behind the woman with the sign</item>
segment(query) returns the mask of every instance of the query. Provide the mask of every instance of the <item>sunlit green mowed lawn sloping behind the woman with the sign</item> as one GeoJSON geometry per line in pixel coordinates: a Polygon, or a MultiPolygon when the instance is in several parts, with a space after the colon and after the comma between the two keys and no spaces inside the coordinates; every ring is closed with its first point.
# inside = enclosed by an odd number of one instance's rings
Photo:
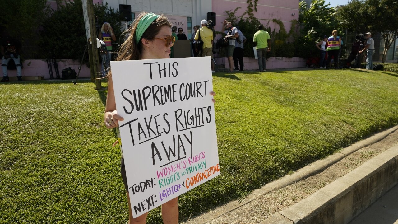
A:
{"type": "MultiPolygon", "coordinates": [[[[127,223],[107,92],[94,87],[0,84],[0,223],[127,223]]],[[[398,124],[396,73],[215,73],[213,88],[221,175],[180,196],[181,220],[398,124]]]]}

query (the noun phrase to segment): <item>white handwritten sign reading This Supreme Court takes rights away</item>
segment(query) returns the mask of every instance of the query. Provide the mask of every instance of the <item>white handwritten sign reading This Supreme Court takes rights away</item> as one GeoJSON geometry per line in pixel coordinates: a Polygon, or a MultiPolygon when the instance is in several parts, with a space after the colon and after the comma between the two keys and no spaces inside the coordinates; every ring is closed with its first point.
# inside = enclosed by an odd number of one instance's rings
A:
{"type": "Polygon", "coordinates": [[[133,217],[220,174],[209,57],[111,61],[133,217]]]}

